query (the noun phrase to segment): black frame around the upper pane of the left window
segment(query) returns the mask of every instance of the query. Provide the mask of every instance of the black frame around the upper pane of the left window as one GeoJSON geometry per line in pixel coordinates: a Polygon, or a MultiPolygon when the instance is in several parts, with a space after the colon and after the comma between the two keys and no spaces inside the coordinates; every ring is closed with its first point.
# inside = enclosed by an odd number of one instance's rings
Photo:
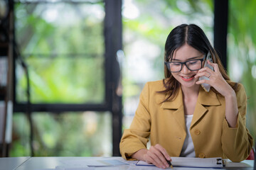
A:
{"type": "MultiPolygon", "coordinates": [[[[63,1],[62,1],[63,2],[63,1]]],[[[64,1],[70,3],[85,3],[82,1],[64,1]]],[[[122,50],[122,0],[99,1],[105,4],[104,39],[105,39],[105,101],[103,103],[29,103],[29,110],[33,112],[50,112],[60,114],[68,111],[97,111],[112,113],[112,156],[120,156],[119,141],[122,135],[122,94],[117,94],[121,84],[121,71],[117,61],[117,51],[122,50]]],[[[14,11],[16,1],[10,0],[14,11]]],[[[23,1],[23,4],[51,3],[47,1],[23,1]]],[[[57,2],[58,3],[58,2],[57,2]]],[[[90,2],[88,2],[90,3],[90,2]]],[[[15,23],[11,21],[11,23],[15,23]]],[[[13,44],[15,44],[15,29],[13,31],[13,44]]],[[[14,51],[14,113],[26,113],[28,103],[16,101],[16,61],[18,55],[14,51]]]]}

